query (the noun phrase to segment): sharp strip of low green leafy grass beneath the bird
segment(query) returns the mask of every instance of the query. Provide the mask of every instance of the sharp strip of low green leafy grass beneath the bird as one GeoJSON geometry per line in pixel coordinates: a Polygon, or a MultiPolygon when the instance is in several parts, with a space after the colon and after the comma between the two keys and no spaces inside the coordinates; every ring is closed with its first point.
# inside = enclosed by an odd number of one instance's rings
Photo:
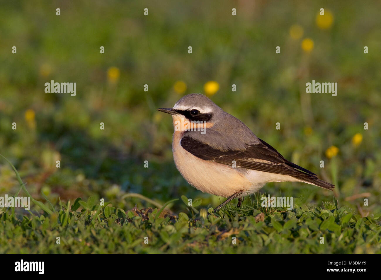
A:
{"type": "Polygon", "coordinates": [[[208,213],[196,209],[201,200],[188,206],[181,198],[186,210],[178,216],[165,209],[174,200],[142,211],[93,197],[51,210],[38,202],[40,215],[0,208],[0,253],[381,253],[381,213],[361,217],[337,200],[309,208],[295,198],[287,211],[261,206],[257,194],[242,208],[208,213]]]}

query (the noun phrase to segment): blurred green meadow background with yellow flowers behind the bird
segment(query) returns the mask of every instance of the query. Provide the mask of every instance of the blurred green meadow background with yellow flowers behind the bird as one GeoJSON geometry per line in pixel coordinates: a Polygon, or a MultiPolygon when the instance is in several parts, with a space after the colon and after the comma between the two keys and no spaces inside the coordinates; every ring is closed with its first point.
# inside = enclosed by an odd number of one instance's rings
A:
{"type": "MultiPolygon", "coordinates": [[[[381,210],[381,2],[0,3],[0,153],[35,198],[92,195],[131,209],[153,205],[126,193],[160,204],[186,195],[217,206],[220,198],[176,170],[171,118],[156,111],[204,93],[287,159],[336,184],[339,205],[381,210]],[[76,82],[77,95],[45,93],[51,80],[76,82]],[[337,82],[338,95],[306,93],[312,80],[337,82]]],[[[18,189],[1,161],[0,195],[18,189]]],[[[302,183],[261,192],[309,206],[332,201],[331,192],[302,183]]],[[[180,201],[175,212],[185,208],[180,201]]]]}

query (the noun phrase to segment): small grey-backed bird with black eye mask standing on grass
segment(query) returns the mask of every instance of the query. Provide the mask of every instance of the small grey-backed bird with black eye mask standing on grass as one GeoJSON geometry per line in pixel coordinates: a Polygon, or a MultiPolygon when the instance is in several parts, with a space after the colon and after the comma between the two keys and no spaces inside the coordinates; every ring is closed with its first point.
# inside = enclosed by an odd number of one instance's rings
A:
{"type": "Polygon", "coordinates": [[[267,182],[305,182],[332,190],[334,185],[286,160],[239,119],[202,94],[188,94],[173,108],[174,163],[196,189],[227,197],[217,209],[253,194],[267,182]]]}

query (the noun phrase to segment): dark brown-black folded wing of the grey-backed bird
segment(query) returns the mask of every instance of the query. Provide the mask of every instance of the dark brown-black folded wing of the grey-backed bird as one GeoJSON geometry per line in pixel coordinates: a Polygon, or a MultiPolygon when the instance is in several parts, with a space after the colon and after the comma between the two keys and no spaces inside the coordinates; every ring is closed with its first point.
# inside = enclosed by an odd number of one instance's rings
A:
{"type": "Polygon", "coordinates": [[[246,150],[228,150],[226,152],[214,149],[189,136],[182,138],[180,144],[192,155],[202,158],[203,160],[210,160],[225,165],[232,165],[233,160],[235,160],[237,167],[290,175],[300,179],[317,179],[315,173],[295,163],[289,162],[265,141],[261,139],[259,139],[259,141],[259,144],[248,145],[246,150]]]}

